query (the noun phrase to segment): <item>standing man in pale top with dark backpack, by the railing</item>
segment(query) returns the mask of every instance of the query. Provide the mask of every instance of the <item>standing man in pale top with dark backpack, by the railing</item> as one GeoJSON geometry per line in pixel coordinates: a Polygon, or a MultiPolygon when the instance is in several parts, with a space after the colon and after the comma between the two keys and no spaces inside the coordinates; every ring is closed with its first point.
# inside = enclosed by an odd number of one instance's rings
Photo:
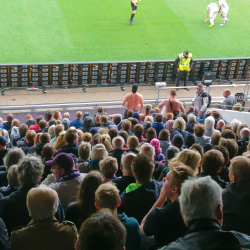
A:
{"type": "Polygon", "coordinates": [[[195,94],[194,99],[192,100],[192,106],[195,109],[195,115],[202,117],[207,109],[207,105],[209,104],[208,94],[203,90],[203,84],[197,84],[197,92],[195,94]]]}

